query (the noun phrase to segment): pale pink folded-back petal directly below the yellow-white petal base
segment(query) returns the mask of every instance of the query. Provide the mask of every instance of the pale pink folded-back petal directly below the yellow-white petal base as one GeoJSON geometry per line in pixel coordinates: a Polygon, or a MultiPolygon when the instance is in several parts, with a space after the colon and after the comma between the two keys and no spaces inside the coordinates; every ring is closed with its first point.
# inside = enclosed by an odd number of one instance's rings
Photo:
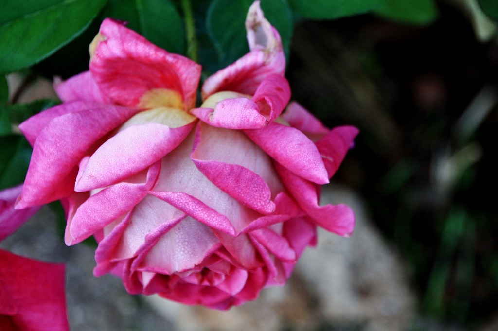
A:
{"type": "Polygon", "coordinates": [[[188,135],[193,123],[172,129],[148,123],[133,125],[102,144],[80,168],[75,190],[106,187],[140,172],[176,148],[188,135]]]}

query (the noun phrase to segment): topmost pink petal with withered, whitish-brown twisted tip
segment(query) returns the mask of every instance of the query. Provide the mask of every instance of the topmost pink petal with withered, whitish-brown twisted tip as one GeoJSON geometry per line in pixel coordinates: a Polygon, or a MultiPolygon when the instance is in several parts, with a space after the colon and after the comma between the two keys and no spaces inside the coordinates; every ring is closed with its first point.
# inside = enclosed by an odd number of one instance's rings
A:
{"type": "Polygon", "coordinates": [[[264,18],[259,1],[255,1],[249,8],[246,30],[250,52],[204,82],[203,100],[219,91],[253,95],[268,75],[283,76],[285,55],[280,35],[264,18]]]}

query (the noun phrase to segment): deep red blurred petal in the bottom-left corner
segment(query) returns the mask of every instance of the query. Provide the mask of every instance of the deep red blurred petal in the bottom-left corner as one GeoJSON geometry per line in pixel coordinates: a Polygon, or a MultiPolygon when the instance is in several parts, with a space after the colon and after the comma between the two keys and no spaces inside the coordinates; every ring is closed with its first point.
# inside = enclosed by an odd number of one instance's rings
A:
{"type": "Polygon", "coordinates": [[[69,331],[64,265],[4,250],[0,250],[0,264],[0,330],[69,331]]]}

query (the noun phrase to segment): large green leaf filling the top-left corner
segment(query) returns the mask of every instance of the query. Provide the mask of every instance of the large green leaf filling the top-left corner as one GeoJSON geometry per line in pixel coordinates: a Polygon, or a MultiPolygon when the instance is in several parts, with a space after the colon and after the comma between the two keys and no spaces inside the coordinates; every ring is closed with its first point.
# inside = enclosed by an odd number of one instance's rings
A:
{"type": "Polygon", "coordinates": [[[0,18],[0,73],[28,67],[80,34],[107,0],[6,0],[0,18]]]}

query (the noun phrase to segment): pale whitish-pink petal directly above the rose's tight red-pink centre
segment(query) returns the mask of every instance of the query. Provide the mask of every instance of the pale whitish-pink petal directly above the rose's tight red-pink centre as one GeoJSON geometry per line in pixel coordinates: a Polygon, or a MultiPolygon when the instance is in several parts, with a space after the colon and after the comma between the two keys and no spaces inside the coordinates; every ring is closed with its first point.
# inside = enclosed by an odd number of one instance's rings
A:
{"type": "Polygon", "coordinates": [[[183,217],[171,225],[147,235],[132,265],[133,270],[167,275],[183,272],[201,264],[219,247],[211,228],[199,221],[183,217]]]}

